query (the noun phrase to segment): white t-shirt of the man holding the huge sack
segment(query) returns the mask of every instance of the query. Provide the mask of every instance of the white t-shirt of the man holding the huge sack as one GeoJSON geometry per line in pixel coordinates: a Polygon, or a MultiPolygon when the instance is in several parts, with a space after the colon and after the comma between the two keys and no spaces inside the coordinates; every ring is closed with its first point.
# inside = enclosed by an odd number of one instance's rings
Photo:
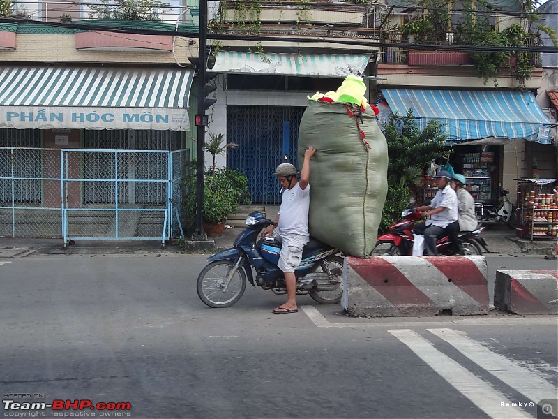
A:
{"type": "Polygon", "coordinates": [[[310,184],[301,189],[299,182],[283,191],[279,209],[281,235],[308,236],[308,210],[310,210],[310,184]]]}

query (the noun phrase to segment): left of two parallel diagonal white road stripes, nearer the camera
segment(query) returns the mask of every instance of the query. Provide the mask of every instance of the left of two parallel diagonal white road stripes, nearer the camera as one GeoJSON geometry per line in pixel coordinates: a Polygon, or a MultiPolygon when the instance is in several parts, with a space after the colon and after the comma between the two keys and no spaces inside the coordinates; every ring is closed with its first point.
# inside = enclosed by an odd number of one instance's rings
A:
{"type": "Polygon", "coordinates": [[[533,418],[516,406],[502,408],[500,404],[506,402],[508,397],[495,390],[490,383],[481,380],[444,353],[435,349],[429,341],[413,330],[398,329],[388,330],[388,332],[407,345],[411,351],[416,353],[444,380],[453,385],[456,390],[471,400],[490,418],[533,418]]]}

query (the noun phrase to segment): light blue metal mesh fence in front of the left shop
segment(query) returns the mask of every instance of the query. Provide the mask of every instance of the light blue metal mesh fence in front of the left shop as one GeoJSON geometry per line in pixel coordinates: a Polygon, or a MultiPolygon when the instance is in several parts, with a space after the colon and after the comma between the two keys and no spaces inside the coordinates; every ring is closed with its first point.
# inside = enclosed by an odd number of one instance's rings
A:
{"type": "Polygon", "coordinates": [[[165,240],[183,234],[190,151],[0,147],[0,236],[165,240]]]}

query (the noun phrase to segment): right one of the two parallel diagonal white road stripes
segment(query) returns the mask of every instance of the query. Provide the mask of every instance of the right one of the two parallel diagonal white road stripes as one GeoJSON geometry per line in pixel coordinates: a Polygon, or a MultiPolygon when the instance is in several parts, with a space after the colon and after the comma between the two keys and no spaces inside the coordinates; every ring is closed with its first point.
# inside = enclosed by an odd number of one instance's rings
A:
{"type": "Polygon", "coordinates": [[[515,388],[522,395],[537,403],[542,399],[556,399],[558,389],[517,362],[478,344],[460,332],[451,329],[427,329],[428,332],[444,339],[469,360],[472,360],[493,376],[515,388]]]}

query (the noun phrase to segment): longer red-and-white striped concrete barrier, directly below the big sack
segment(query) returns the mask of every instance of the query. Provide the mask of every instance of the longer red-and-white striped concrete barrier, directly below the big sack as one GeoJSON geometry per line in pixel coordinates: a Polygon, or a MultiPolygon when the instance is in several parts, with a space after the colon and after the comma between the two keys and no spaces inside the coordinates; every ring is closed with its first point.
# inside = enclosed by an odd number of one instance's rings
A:
{"type": "Polygon", "coordinates": [[[488,314],[484,256],[345,258],[342,307],[352,316],[488,314]]]}

